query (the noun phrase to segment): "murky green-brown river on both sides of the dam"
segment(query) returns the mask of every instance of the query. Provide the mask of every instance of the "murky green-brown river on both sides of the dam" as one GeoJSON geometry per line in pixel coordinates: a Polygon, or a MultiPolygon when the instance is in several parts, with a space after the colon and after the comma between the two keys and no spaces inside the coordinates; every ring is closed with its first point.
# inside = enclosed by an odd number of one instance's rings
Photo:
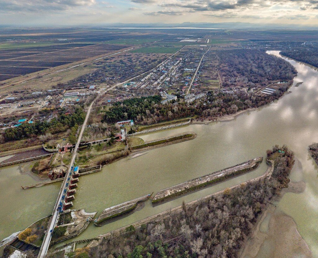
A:
{"type": "MultiPolygon", "coordinates": [[[[278,51],[269,53],[279,56],[278,51]]],[[[298,71],[290,88],[292,93],[229,122],[191,124],[142,136],[145,140],[151,140],[185,131],[197,133],[194,140],[148,150],[142,156],[127,157],[105,166],[101,172],[81,177],[73,208],[98,211],[98,216],[109,206],[156,193],[162,188],[254,157],[265,157],[266,150],[273,145],[286,144],[295,152],[297,163],[300,164],[298,169],[293,169],[291,179],[305,181],[306,190],[301,194],[286,193],[277,204],[278,209],[295,220],[299,233],[308,243],[314,257],[318,257],[317,167],[307,150],[309,144],[318,142],[318,71],[294,60],[288,62],[298,71]],[[298,82],[303,83],[294,87],[298,82]]],[[[148,201],[141,210],[103,227],[95,227],[91,223],[85,232],[70,241],[107,233],[178,206],[183,200],[188,202],[236,185],[263,174],[266,168],[263,161],[256,170],[247,174],[155,207],[148,201]]],[[[34,179],[21,174],[17,166],[0,170],[0,239],[52,212],[59,184],[29,190],[20,187],[33,182],[34,179]]]]}

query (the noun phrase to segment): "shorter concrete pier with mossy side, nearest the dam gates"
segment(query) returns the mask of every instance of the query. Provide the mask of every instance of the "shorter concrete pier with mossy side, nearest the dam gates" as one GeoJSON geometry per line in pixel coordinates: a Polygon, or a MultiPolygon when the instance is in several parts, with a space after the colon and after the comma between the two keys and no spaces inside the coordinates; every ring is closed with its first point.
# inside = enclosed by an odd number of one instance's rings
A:
{"type": "Polygon", "coordinates": [[[100,226],[100,223],[103,221],[115,218],[117,216],[126,214],[132,210],[134,210],[138,203],[148,200],[150,198],[151,194],[144,195],[142,197],[109,207],[105,209],[97,220],[95,220],[95,225],[100,226]]]}

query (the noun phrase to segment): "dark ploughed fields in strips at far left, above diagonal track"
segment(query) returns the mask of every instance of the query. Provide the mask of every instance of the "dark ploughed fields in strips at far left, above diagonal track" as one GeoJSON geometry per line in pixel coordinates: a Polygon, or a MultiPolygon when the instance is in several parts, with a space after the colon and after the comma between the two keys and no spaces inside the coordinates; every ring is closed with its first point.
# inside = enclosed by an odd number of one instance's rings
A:
{"type": "Polygon", "coordinates": [[[8,48],[0,51],[0,81],[103,54],[107,55],[107,53],[130,46],[91,43],[62,43],[57,45],[55,43],[45,46],[41,44],[37,46],[15,44],[23,48],[13,48],[10,44],[3,44],[3,47],[7,45],[8,48]],[[30,48],[27,46],[30,46],[30,48]]]}

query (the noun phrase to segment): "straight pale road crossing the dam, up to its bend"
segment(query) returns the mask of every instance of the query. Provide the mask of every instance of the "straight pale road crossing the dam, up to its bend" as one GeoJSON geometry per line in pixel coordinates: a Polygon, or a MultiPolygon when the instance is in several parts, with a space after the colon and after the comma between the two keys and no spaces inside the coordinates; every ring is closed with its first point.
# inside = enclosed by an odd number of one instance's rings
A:
{"type": "Polygon", "coordinates": [[[82,128],[80,130],[77,143],[76,143],[75,148],[73,150],[73,155],[72,155],[72,159],[71,159],[70,166],[69,166],[69,169],[68,169],[68,173],[66,174],[66,176],[65,176],[65,178],[63,180],[63,183],[61,185],[61,189],[59,191],[59,197],[58,197],[58,199],[56,201],[56,204],[54,206],[52,217],[51,217],[51,219],[49,221],[49,224],[48,224],[48,227],[47,227],[47,231],[46,231],[46,234],[44,236],[44,239],[43,239],[43,242],[42,242],[42,246],[40,248],[40,252],[38,254],[39,258],[44,258],[45,255],[47,254],[47,250],[49,249],[50,241],[51,241],[51,237],[52,237],[52,232],[53,232],[53,229],[54,229],[54,227],[56,225],[56,222],[58,220],[58,217],[59,217],[58,206],[59,206],[59,203],[62,201],[63,191],[66,188],[67,178],[68,178],[68,175],[70,174],[70,172],[72,171],[72,166],[73,166],[75,158],[76,158],[77,149],[79,147],[79,143],[80,143],[80,141],[82,139],[84,130],[86,128],[86,123],[87,123],[89,114],[90,114],[90,112],[92,110],[94,101],[91,103],[91,105],[89,106],[89,108],[87,110],[85,121],[84,121],[83,126],[82,126],[82,128]],[[50,232],[51,230],[52,230],[52,232],[50,232]]]}

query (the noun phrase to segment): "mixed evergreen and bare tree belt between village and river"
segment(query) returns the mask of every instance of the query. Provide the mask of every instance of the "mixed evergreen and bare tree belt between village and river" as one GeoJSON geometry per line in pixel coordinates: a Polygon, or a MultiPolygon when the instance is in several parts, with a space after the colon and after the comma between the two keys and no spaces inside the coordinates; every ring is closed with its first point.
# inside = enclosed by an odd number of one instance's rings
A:
{"type": "Polygon", "coordinates": [[[222,115],[234,114],[240,110],[257,108],[270,103],[284,94],[288,87],[288,84],[282,84],[279,90],[264,97],[245,91],[236,91],[233,94],[208,92],[206,101],[194,101],[190,105],[180,99],[175,103],[161,104],[159,95],[136,97],[115,102],[109,110],[104,112],[102,122],[114,123],[134,119],[136,124],[149,125],[190,116],[196,116],[199,120],[214,120],[222,115]]]}

